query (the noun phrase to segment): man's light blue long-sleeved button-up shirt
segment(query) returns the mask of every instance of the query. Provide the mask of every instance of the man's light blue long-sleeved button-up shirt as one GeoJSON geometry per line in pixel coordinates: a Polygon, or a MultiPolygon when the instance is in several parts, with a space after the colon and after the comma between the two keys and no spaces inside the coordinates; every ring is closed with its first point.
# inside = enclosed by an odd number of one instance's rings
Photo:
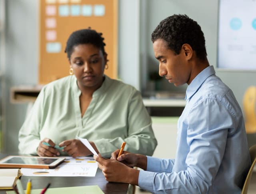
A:
{"type": "Polygon", "coordinates": [[[186,90],[176,159],[147,156],[139,186],[153,193],[241,193],[250,168],[242,111],[233,92],[205,68],[186,90]]]}

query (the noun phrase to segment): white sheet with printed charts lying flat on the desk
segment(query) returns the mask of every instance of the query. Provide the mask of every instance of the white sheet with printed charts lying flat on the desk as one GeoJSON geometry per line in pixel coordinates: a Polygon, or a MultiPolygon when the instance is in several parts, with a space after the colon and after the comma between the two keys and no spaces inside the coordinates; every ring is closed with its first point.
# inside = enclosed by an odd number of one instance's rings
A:
{"type": "Polygon", "coordinates": [[[21,168],[22,176],[95,176],[98,168],[93,157],[66,157],[52,169],[21,168]]]}

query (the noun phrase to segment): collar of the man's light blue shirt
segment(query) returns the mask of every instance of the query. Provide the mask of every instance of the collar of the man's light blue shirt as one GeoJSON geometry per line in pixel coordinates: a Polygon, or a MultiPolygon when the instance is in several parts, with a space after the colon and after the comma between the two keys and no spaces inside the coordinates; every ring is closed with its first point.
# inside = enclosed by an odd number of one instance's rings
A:
{"type": "Polygon", "coordinates": [[[213,66],[208,66],[204,70],[202,70],[188,85],[186,90],[186,97],[185,100],[190,99],[197,90],[201,87],[204,81],[211,75],[215,74],[215,70],[213,66]]]}

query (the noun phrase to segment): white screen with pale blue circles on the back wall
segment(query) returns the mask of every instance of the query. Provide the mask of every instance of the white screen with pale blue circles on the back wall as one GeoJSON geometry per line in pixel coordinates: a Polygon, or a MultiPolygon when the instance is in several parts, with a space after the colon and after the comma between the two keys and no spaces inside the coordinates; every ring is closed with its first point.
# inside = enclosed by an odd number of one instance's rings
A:
{"type": "Polygon", "coordinates": [[[217,68],[256,70],[256,0],[220,0],[217,68]]]}

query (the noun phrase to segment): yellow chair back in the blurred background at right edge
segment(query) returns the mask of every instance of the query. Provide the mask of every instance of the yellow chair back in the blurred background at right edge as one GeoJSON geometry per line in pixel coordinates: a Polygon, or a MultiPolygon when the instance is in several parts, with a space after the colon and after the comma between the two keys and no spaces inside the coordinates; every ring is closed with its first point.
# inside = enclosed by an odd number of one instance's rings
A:
{"type": "Polygon", "coordinates": [[[250,86],[245,91],[243,107],[246,133],[256,133],[256,86],[250,86]]]}

